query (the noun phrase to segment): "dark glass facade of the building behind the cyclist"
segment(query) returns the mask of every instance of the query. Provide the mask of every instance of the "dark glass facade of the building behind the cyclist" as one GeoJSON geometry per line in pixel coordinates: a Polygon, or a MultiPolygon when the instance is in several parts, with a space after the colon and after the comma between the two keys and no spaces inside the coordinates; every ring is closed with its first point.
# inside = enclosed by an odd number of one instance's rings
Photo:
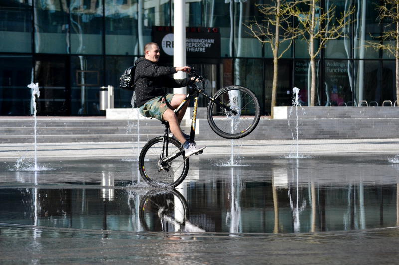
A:
{"type": "MultiPolygon", "coordinates": [[[[209,75],[211,88],[237,84],[251,88],[262,114],[271,107],[271,49],[250,36],[245,23],[262,14],[255,4],[269,0],[190,0],[187,27],[217,28],[220,56],[191,58],[209,75]]],[[[366,47],[380,36],[377,0],[329,0],[336,13],[355,6],[346,37],[326,43],[316,61],[320,106],[381,106],[394,103],[395,61],[392,55],[366,47]]],[[[152,41],[153,26],[173,26],[172,0],[0,0],[0,115],[31,115],[31,82],[39,82],[39,115],[104,115],[98,109],[99,88],[115,87],[115,107],[130,107],[131,92],[117,88],[121,72],[152,41]]],[[[331,23],[335,23],[335,18],[331,23]]],[[[286,44],[285,44],[286,45],[286,44]]],[[[316,44],[317,45],[317,44],[316,44]]],[[[286,46],[282,45],[281,49],[286,46]]],[[[291,90],[300,88],[303,105],[310,98],[307,43],[297,39],[279,61],[277,105],[291,105],[291,90]]],[[[172,64],[172,57],[161,58],[172,64]]],[[[206,102],[200,101],[200,106],[206,102]]]]}

